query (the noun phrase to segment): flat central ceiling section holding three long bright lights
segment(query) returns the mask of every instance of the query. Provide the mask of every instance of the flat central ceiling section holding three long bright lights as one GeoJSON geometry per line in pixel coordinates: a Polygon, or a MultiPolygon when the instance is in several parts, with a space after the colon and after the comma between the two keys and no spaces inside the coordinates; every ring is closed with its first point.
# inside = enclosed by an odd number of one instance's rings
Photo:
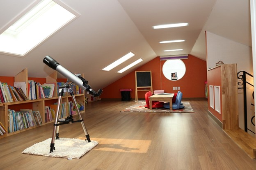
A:
{"type": "Polygon", "coordinates": [[[216,0],[118,0],[157,56],[190,54],[216,0]],[[187,27],[158,29],[154,25],[189,22],[187,27]],[[185,42],[160,44],[164,40],[185,42]],[[167,49],[183,51],[164,52],[167,49]]]}

